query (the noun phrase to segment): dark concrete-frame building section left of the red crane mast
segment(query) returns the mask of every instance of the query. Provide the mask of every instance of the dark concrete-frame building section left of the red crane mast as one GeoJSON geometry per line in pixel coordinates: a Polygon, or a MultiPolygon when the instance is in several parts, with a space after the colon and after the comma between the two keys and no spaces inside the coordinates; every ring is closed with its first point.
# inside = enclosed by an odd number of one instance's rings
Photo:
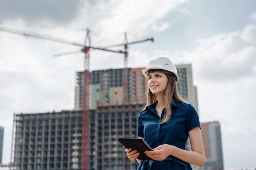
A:
{"type": "Polygon", "coordinates": [[[81,167],[82,111],[14,114],[11,153],[22,170],[81,167]]]}

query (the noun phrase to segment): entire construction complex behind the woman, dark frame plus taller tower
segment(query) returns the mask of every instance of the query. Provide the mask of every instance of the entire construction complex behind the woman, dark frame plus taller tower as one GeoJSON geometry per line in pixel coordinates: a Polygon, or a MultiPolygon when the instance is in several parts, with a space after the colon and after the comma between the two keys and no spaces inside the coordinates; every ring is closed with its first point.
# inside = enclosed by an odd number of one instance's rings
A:
{"type": "MultiPolygon", "coordinates": [[[[191,65],[177,65],[182,97],[197,109],[191,65]],[[189,90],[194,90],[190,92],[189,90]],[[192,96],[193,95],[193,96],[192,96]],[[194,101],[195,100],[195,101],[194,101]]],[[[123,101],[123,69],[90,72],[90,118],[87,168],[135,170],[118,137],[136,138],[137,116],[145,105],[147,80],[142,68],[128,68],[128,100],[123,101]]],[[[83,72],[76,73],[75,109],[61,112],[15,114],[12,162],[23,170],[81,170],[83,72]]]]}

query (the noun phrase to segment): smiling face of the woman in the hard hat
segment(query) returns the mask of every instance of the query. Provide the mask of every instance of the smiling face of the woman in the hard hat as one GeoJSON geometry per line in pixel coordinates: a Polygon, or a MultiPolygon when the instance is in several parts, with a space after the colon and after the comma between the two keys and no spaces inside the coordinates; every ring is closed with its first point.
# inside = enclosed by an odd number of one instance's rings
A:
{"type": "Polygon", "coordinates": [[[165,92],[168,78],[162,72],[152,72],[148,75],[148,87],[153,94],[161,94],[165,92]]]}

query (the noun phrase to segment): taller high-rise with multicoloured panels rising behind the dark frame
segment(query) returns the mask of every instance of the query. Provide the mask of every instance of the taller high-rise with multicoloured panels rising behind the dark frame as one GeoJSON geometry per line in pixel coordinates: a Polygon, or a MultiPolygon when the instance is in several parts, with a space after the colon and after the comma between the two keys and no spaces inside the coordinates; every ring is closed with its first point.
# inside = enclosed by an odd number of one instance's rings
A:
{"type": "MultiPolygon", "coordinates": [[[[180,95],[191,103],[198,112],[197,87],[193,85],[191,64],[176,65],[179,75],[177,87],[180,95]]],[[[143,68],[128,68],[128,100],[146,101],[148,80],[143,76],[143,68]]],[[[74,108],[82,108],[83,72],[76,72],[74,108]]],[[[123,102],[123,69],[94,70],[90,72],[90,109],[100,103],[123,102]]]]}

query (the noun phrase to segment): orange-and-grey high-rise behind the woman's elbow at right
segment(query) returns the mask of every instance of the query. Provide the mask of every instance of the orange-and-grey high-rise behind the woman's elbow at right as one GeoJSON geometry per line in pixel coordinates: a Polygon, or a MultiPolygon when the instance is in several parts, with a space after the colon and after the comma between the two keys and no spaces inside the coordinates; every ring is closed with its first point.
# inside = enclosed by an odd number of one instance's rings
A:
{"type": "Polygon", "coordinates": [[[203,167],[192,166],[193,170],[224,170],[220,123],[201,123],[201,134],[206,162],[203,167]]]}

